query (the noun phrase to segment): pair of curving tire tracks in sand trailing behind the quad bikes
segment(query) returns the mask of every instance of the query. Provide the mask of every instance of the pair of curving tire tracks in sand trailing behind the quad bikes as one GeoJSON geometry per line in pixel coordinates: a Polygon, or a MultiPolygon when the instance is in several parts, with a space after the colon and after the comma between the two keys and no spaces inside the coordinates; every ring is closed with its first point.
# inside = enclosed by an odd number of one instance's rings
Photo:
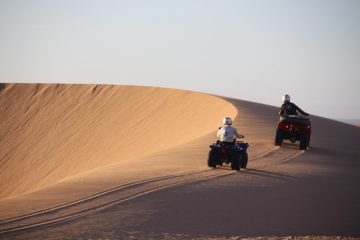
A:
{"type": "MultiPolygon", "coordinates": [[[[254,157],[249,158],[251,169],[276,165],[298,156],[303,151],[272,147],[254,157]]],[[[228,170],[225,166],[203,168],[195,171],[156,177],[141,181],[122,184],[75,201],[34,211],[7,219],[0,220],[0,236],[12,235],[22,231],[41,228],[60,222],[78,218],[111,207],[115,204],[134,199],[136,197],[197,181],[207,180],[237,171],[228,170]],[[218,170],[222,170],[218,172],[218,170]],[[223,171],[226,170],[226,171],[223,171]]]]}

